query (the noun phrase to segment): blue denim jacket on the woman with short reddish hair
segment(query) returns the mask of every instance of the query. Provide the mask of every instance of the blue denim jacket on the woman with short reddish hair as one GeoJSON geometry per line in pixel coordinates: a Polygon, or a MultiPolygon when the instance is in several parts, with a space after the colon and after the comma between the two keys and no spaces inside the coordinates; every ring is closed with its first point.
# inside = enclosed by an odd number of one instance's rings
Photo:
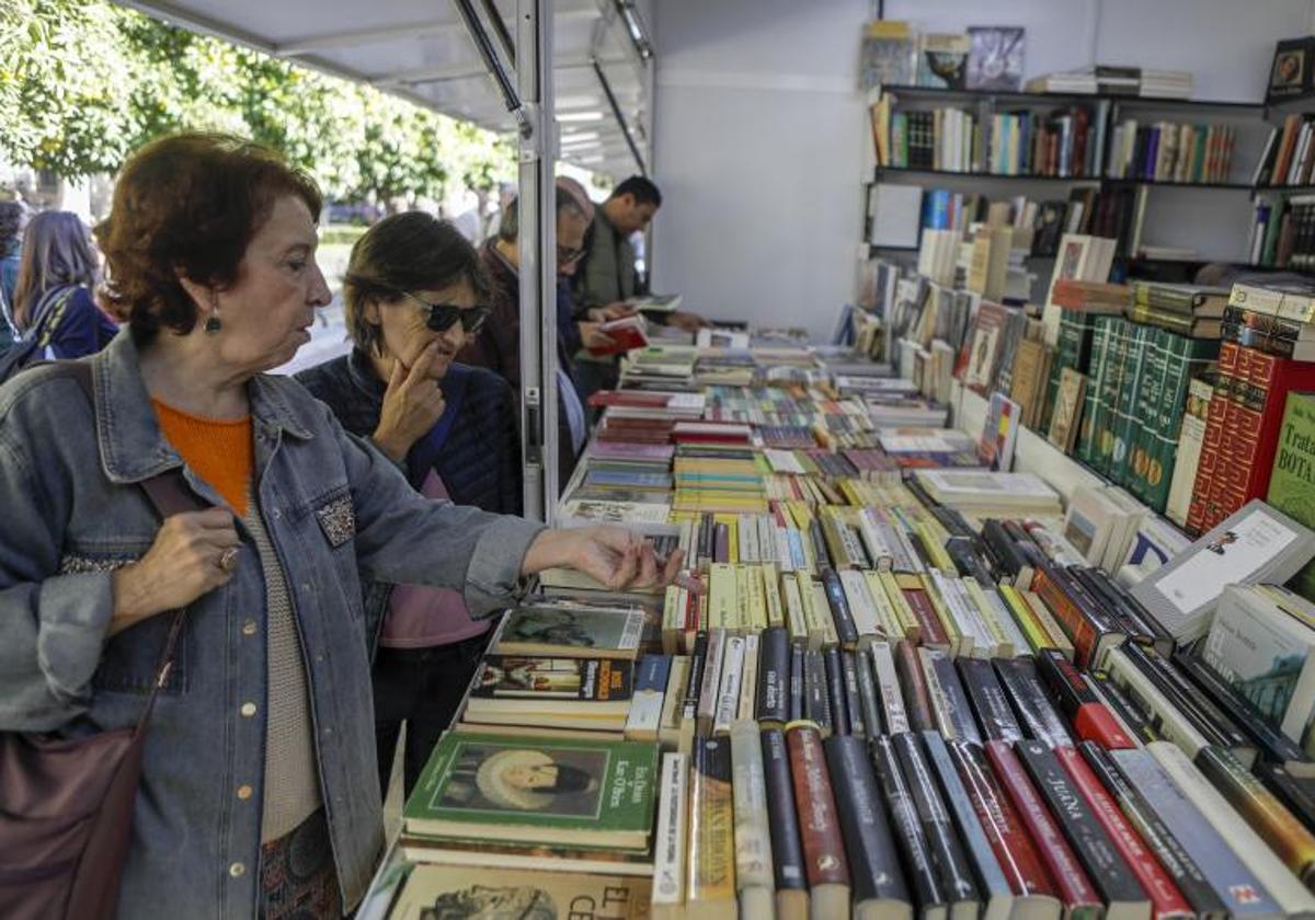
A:
{"type": "MultiPolygon", "coordinates": [[[[168,627],[160,615],[107,639],[110,572],[159,528],[135,484],[181,460],[155,423],[130,333],[92,365],[95,415],[78,384],[49,368],[0,388],[0,731],[133,724],[168,627]]],[[[540,526],[423,499],[292,380],[258,376],[247,392],[254,494],[301,633],[346,909],[383,845],[360,578],[464,589],[471,612],[487,614],[513,599],[540,526]]],[[[237,573],[188,609],[149,725],[121,917],[256,915],[266,595],[238,528],[237,573]],[[256,794],[239,798],[242,786],[256,794]]]]}

